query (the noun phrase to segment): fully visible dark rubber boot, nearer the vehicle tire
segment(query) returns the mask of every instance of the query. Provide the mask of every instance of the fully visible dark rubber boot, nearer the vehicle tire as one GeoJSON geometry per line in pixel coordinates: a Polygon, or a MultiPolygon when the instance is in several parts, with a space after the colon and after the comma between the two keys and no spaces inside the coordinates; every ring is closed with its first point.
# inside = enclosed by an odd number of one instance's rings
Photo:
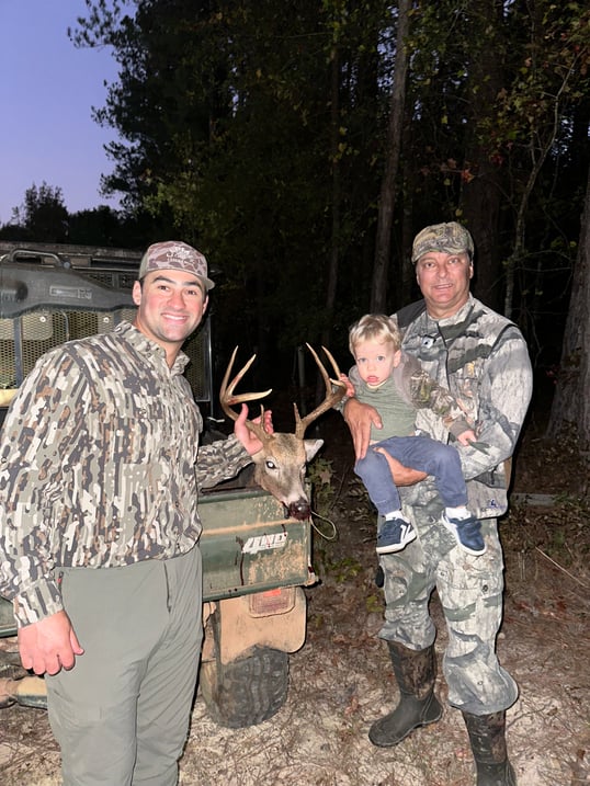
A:
{"type": "Polygon", "coordinates": [[[418,651],[397,641],[387,641],[387,646],[400,695],[394,711],[376,720],[368,730],[368,739],[379,748],[397,745],[413,729],[434,724],[442,716],[442,707],[434,695],[434,645],[418,651]]]}

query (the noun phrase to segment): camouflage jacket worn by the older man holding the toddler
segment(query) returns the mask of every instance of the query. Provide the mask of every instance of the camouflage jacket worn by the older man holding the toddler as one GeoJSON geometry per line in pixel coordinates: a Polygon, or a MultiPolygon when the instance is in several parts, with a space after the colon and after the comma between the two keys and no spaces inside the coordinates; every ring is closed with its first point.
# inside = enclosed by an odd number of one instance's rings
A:
{"type": "MultiPolygon", "coordinates": [[[[480,519],[500,515],[507,510],[506,460],[532,394],[531,361],[520,330],[469,296],[447,319],[435,321],[423,310],[405,328],[402,349],[451,391],[474,424],[477,446],[458,446],[469,506],[480,519]]],[[[419,411],[417,426],[447,440],[444,424],[428,409],[419,411]]],[[[421,503],[426,485],[405,489],[404,501],[421,503]]]]}

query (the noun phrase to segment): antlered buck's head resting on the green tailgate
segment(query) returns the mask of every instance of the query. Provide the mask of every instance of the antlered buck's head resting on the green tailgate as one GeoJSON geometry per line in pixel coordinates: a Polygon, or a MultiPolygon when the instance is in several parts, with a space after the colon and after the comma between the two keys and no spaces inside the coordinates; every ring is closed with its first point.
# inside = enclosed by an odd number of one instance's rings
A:
{"type": "MultiPolygon", "coordinates": [[[[246,421],[248,428],[262,442],[262,449],[252,456],[252,460],[254,463],[256,482],[282,502],[290,516],[298,520],[308,519],[310,515],[309,499],[304,486],[305,465],[314,458],[324,444],[324,440],[304,440],[305,430],[310,423],[319,418],[320,414],[327,412],[331,407],[337,405],[344,397],[347,391],[347,386],[340,380],[340,371],[338,365],[328,350],[325,346],[322,348],[332,364],[337,377],[336,379],[330,379],[324,364],[309,344],[307,344],[307,349],[314,355],[326,384],[326,398],[319,407],[317,407],[313,412],[306,414],[304,418],[300,418],[297,405],[293,405],[295,410],[294,434],[269,434],[264,431],[262,423],[254,423],[251,420],[246,421]],[[336,389],[332,386],[336,386],[336,389]]],[[[256,355],[252,355],[243,368],[236,374],[231,383],[228,385],[228,379],[231,374],[237,351],[238,348],[236,346],[219,391],[222,409],[231,420],[236,420],[238,417],[231,409],[234,405],[242,403],[245,401],[254,401],[257,399],[264,398],[272,392],[272,389],[264,390],[262,392],[238,395],[234,392],[237,384],[250,368],[256,358],[256,355]]],[[[261,412],[262,414],[264,413],[262,407],[261,412]]]]}

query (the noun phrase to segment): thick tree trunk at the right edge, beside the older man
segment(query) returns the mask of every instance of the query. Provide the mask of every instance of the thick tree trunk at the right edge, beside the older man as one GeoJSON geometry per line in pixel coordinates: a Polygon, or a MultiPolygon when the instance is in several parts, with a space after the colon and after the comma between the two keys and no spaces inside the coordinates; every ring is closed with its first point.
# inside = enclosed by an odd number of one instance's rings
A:
{"type": "Polygon", "coordinates": [[[561,363],[547,436],[576,429],[580,448],[590,447],[590,169],[580,227],[580,243],[571,284],[561,363]]]}

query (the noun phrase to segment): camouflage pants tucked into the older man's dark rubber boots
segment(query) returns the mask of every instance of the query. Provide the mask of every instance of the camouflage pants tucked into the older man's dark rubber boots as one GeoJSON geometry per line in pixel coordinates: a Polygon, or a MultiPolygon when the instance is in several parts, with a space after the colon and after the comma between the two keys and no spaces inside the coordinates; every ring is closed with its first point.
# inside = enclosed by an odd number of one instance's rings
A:
{"type": "Polygon", "coordinates": [[[435,588],[449,633],[443,658],[449,703],[473,715],[510,707],[517,700],[517,683],[496,656],[503,592],[497,521],[481,522],[487,550],[473,557],[440,523],[435,493],[405,510],[418,537],[402,551],[381,557],[386,611],[379,636],[413,650],[430,647],[436,635],[429,613],[435,588]]]}

